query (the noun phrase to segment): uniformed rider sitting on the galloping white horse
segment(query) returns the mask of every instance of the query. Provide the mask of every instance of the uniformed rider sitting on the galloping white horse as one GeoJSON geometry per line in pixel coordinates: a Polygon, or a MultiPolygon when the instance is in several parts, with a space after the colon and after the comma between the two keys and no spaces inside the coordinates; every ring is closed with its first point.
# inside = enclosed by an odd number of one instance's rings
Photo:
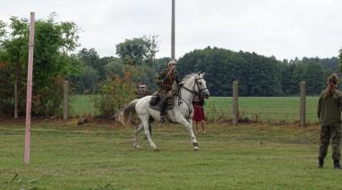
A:
{"type": "Polygon", "coordinates": [[[167,69],[159,73],[158,76],[158,97],[160,99],[160,122],[165,121],[165,112],[167,110],[167,99],[171,99],[175,93],[172,91],[174,82],[178,85],[179,79],[175,71],[175,60],[168,62],[167,69]]]}

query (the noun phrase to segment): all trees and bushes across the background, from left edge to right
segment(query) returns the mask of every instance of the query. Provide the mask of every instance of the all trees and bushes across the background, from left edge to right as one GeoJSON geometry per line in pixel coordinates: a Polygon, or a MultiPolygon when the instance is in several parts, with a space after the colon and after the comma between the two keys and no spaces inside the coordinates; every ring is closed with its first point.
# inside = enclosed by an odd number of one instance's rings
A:
{"type": "MultiPolygon", "coordinates": [[[[75,94],[101,94],[96,100],[104,115],[109,115],[133,99],[139,83],[156,91],[155,77],[167,67],[170,57],[156,58],[158,37],[143,36],[118,43],[116,56],[100,57],[95,48],[81,48],[78,28],[73,22],[56,22],[55,14],[36,22],[34,49],[32,114],[56,116],[62,112],[62,85],[71,83],[75,94]],[[120,94],[120,96],[116,96],[120,94]],[[110,101],[108,97],[116,97],[110,101]],[[116,104],[117,97],[124,97],[116,104]]],[[[0,21],[0,115],[13,114],[14,83],[17,84],[19,115],[26,100],[26,72],[29,21],[12,17],[0,21]]],[[[307,93],[317,95],[325,88],[330,73],[340,74],[338,57],[278,60],[254,52],[235,52],[225,48],[193,50],[177,62],[179,75],[206,72],[213,96],[231,96],[232,82],[237,80],[242,96],[293,96],[299,82],[307,82],[307,93]]]]}

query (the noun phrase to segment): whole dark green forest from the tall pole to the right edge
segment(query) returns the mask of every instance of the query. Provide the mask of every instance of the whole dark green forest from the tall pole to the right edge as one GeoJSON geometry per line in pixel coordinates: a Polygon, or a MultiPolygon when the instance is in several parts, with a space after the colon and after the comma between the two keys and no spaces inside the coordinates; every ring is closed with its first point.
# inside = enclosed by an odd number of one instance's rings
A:
{"type": "Polygon", "coordinates": [[[317,95],[325,88],[326,77],[338,73],[338,59],[304,57],[280,62],[274,56],[205,48],[181,57],[178,70],[181,75],[206,72],[207,85],[214,96],[231,96],[235,80],[241,96],[297,95],[301,81],[306,81],[307,94],[317,95]]]}

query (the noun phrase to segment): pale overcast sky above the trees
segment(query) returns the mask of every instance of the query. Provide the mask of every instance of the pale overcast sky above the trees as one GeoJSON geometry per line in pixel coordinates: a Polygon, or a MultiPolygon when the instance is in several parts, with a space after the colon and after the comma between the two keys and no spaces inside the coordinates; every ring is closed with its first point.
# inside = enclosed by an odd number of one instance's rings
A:
{"type": "MultiPolygon", "coordinates": [[[[170,56],[171,0],[0,0],[10,16],[73,21],[81,48],[115,56],[124,39],[158,35],[157,57],[170,56]]],[[[278,59],[338,56],[341,0],[175,0],[175,57],[194,49],[228,48],[278,59]]]]}

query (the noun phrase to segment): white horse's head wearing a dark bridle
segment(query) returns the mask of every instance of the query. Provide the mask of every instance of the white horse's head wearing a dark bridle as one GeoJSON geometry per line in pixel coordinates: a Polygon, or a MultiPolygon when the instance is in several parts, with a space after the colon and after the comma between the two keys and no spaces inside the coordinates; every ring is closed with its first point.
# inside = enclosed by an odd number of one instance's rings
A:
{"type": "Polygon", "coordinates": [[[192,93],[200,94],[201,97],[209,99],[207,82],[204,80],[204,73],[191,73],[184,77],[184,89],[192,93]]]}

